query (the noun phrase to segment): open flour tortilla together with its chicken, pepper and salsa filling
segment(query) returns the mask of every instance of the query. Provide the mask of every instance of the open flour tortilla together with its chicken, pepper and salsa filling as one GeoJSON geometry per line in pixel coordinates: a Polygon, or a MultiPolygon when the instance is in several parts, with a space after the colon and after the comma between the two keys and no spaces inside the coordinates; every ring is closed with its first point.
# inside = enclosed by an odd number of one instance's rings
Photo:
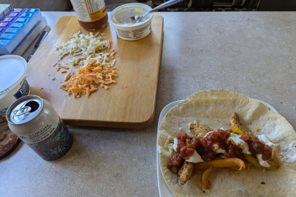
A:
{"type": "Polygon", "coordinates": [[[176,197],[295,194],[294,129],[241,94],[208,90],[185,99],[161,121],[157,146],[161,173],[176,197]]]}

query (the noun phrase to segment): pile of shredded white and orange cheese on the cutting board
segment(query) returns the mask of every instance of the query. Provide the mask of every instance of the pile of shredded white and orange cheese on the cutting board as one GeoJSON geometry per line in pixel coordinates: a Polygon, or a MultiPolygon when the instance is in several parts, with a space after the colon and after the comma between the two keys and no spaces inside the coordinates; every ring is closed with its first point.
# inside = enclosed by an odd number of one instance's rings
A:
{"type": "MultiPolygon", "coordinates": [[[[117,74],[114,67],[116,51],[113,48],[107,53],[106,49],[110,49],[111,41],[103,40],[101,36],[97,37],[98,34],[99,32],[93,35],[91,32],[90,35],[84,35],[79,31],[71,36],[71,40],[67,43],[55,46],[59,49],[59,59],[67,54],[73,54],[74,57],[68,58],[68,61],[73,66],[80,65],[76,74],[70,70],[65,75],[64,80],[68,81],[60,86],[67,91],[68,96],[72,94],[75,98],[80,98],[81,94],[86,94],[86,97],[89,97],[91,92],[97,91],[98,86],[108,89],[107,85],[116,83],[117,74]],[[104,50],[105,53],[99,50],[104,50]]],[[[68,66],[57,64],[61,68],[68,69],[68,66]]]]}

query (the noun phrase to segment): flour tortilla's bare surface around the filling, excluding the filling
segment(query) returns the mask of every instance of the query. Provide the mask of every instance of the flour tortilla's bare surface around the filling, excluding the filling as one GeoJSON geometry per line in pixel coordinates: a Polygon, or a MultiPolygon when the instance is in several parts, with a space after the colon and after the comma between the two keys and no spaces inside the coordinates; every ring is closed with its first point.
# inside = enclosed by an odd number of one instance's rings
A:
{"type": "Polygon", "coordinates": [[[162,175],[176,197],[189,196],[295,196],[296,193],[296,133],[290,123],[277,112],[272,111],[257,100],[226,90],[207,90],[185,99],[163,118],[159,127],[157,147],[162,175]],[[189,133],[189,124],[194,120],[206,124],[214,131],[223,127],[230,129],[229,118],[237,112],[241,123],[253,134],[266,135],[277,144],[279,150],[275,162],[276,170],[266,170],[251,166],[240,172],[229,173],[220,168],[208,178],[211,187],[202,184],[202,170],[192,176],[183,186],[177,174],[167,169],[170,152],[164,148],[168,135],[173,138],[178,133],[189,133]],[[259,128],[255,131],[255,126],[259,128]],[[179,130],[181,128],[181,131],[179,130]],[[264,182],[265,184],[261,184],[264,182]]]}

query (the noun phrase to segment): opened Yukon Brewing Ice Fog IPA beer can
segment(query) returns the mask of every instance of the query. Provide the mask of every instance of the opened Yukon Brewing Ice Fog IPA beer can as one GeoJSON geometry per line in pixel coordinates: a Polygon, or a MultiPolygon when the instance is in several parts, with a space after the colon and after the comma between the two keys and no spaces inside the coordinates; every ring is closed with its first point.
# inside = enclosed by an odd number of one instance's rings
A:
{"type": "Polygon", "coordinates": [[[6,113],[10,130],[42,159],[54,161],[71,148],[73,137],[51,104],[28,95],[11,104],[6,113]]]}

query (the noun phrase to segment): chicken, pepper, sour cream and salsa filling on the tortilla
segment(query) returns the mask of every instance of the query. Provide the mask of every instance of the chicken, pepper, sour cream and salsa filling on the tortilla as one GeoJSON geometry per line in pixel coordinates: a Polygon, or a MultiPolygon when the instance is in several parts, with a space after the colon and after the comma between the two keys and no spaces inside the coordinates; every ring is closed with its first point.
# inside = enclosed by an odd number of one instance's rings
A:
{"type": "Polygon", "coordinates": [[[171,146],[175,154],[171,158],[171,163],[167,164],[167,168],[172,173],[179,172],[182,185],[189,180],[194,168],[212,168],[212,170],[205,170],[202,176],[202,182],[206,189],[210,187],[210,182],[206,180],[210,172],[222,167],[233,167],[230,169],[241,171],[245,168],[243,160],[246,164],[249,162],[265,169],[278,168],[276,163],[270,161],[275,159],[275,150],[277,149],[265,135],[251,135],[251,131],[240,123],[239,114],[236,112],[232,114],[229,122],[232,126],[231,129],[221,128],[217,131],[213,131],[204,124],[190,124],[189,130],[193,134],[192,137],[187,133],[179,133],[176,137],[177,140],[175,138],[168,139],[173,141],[171,146]]]}

